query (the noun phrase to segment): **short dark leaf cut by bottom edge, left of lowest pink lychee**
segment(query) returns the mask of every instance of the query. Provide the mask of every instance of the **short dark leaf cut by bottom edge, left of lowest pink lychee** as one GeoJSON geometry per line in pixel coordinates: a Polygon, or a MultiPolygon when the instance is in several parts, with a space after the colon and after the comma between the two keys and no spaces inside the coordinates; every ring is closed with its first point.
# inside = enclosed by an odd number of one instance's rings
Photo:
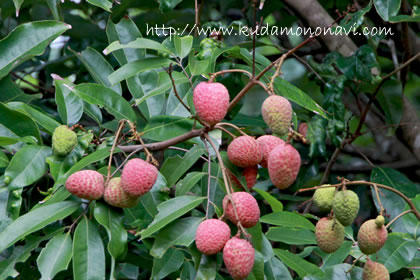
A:
{"type": "Polygon", "coordinates": [[[162,258],[153,261],[151,279],[163,279],[172,272],[181,268],[184,263],[184,254],[180,250],[169,249],[162,258]]]}

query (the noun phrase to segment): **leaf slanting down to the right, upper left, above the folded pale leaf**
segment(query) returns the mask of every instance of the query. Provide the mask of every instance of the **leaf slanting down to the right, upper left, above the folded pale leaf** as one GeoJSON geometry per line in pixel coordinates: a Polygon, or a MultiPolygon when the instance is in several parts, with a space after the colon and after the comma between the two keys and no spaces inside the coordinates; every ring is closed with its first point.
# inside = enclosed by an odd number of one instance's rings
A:
{"type": "Polygon", "coordinates": [[[114,69],[98,51],[91,47],[87,47],[77,56],[96,82],[111,88],[119,95],[122,95],[121,85],[117,83],[112,86],[108,80],[108,76],[114,72],[114,69]]]}

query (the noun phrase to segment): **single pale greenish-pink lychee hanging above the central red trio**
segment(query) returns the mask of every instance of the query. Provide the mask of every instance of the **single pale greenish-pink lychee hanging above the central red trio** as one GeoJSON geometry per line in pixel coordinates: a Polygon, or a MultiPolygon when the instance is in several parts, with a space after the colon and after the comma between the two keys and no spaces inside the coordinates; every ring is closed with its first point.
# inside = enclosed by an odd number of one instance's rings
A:
{"type": "Polygon", "coordinates": [[[262,105],[262,115],[265,123],[274,134],[285,135],[292,122],[292,105],[281,96],[271,95],[262,105]]]}

